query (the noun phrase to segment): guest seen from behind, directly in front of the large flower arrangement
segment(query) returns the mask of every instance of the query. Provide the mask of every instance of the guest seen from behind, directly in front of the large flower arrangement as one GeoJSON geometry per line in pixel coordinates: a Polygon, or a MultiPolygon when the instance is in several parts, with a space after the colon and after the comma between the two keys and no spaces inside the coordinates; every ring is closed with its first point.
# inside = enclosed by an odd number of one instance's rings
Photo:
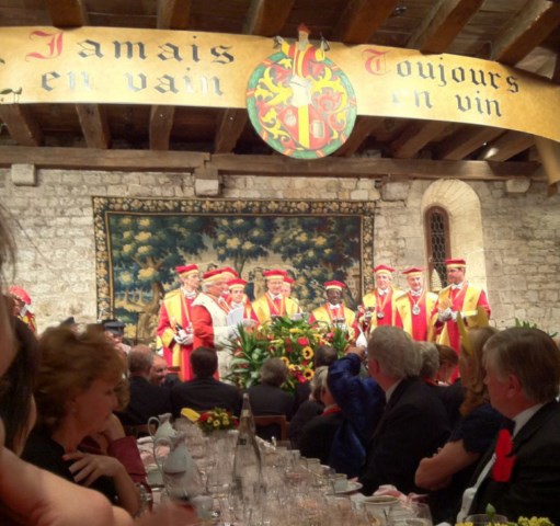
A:
{"type": "MultiPolygon", "coordinates": [[[[288,377],[288,366],[281,358],[268,358],[261,367],[261,384],[248,389],[251,409],[255,416],[284,414],[289,422],[294,412],[294,397],[282,389],[288,377]]],[[[256,430],[256,434],[266,441],[279,437],[279,426],[256,430]]]]}

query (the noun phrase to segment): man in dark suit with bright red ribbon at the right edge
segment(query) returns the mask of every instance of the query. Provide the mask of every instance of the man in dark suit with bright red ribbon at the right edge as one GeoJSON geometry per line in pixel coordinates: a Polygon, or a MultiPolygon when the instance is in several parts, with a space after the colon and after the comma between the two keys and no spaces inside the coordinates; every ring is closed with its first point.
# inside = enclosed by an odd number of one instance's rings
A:
{"type": "Polygon", "coordinates": [[[483,359],[490,402],[513,421],[513,443],[501,432],[461,514],[492,504],[512,522],[539,516],[560,524],[560,350],[538,329],[512,328],[487,342],[483,359]]]}

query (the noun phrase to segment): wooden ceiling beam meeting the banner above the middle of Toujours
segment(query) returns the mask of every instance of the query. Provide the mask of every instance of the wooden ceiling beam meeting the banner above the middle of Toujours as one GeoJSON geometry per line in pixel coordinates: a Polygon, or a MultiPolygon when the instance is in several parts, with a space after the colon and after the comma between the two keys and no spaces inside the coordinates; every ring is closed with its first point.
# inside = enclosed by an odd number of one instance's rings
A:
{"type": "Polygon", "coordinates": [[[418,28],[407,47],[422,53],[444,53],[484,0],[438,0],[418,28]]]}

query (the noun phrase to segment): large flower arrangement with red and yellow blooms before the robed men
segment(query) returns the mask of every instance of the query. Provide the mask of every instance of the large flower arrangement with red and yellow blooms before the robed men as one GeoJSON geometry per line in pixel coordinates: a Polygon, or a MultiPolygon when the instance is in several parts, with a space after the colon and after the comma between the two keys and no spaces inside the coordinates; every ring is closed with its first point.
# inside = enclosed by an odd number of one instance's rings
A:
{"type": "Polygon", "coordinates": [[[286,317],[274,318],[254,330],[240,325],[239,338],[231,347],[233,358],[228,379],[241,389],[254,386],[259,384],[264,361],[275,357],[288,366],[288,379],[284,389],[294,391],[297,384],[313,377],[316,350],[320,345],[333,345],[335,342],[341,345],[344,340],[344,331],[341,329],[331,330],[330,338],[328,330],[330,329],[325,324],[286,317]]]}

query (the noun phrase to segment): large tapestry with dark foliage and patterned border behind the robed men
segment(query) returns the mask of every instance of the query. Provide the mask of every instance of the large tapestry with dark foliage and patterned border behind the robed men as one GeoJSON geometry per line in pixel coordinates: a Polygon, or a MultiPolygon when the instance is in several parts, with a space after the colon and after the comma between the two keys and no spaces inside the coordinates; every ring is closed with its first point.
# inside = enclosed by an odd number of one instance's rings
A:
{"type": "Polygon", "coordinates": [[[342,281],[355,308],[373,265],[374,210],[346,201],[93,197],[99,318],[152,343],[161,298],[186,263],[201,273],[233,267],[252,299],[265,290],[263,271],[287,271],[304,311],[321,304],[324,282],[342,281]]]}

